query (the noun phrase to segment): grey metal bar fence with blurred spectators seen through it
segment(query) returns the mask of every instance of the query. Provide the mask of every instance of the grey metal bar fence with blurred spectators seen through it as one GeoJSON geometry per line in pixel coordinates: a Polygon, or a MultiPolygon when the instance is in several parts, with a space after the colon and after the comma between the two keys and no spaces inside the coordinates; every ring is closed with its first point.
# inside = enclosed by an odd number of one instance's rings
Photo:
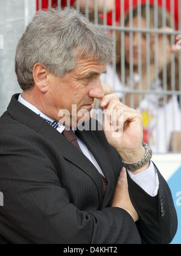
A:
{"type": "Polygon", "coordinates": [[[141,112],[145,142],[154,153],[181,151],[181,0],[37,0],[37,10],[72,5],[112,34],[115,54],[101,81],[141,112]]]}

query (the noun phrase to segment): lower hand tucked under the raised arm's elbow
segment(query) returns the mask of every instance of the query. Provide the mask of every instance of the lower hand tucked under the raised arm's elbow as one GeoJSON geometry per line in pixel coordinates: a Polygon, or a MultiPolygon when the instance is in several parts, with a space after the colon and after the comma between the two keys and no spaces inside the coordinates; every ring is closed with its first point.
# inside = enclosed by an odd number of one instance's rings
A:
{"type": "Polygon", "coordinates": [[[127,175],[124,167],[122,167],[122,170],[119,174],[111,206],[119,207],[127,211],[127,213],[132,216],[134,222],[139,219],[138,214],[136,213],[136,210],[130,200],[127,184],[127,175]]]}

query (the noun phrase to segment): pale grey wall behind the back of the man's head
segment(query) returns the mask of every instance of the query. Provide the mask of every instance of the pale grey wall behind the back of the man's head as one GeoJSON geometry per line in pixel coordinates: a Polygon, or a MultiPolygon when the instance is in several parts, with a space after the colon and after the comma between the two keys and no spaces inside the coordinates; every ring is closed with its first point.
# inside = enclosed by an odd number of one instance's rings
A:
{"type": "Polygon", "coordinates": [[[0,115],[11,95],[21,92],[14,72],[14,56],[17,42],[35,12],[36,0],[0,0],[0,115]]]}

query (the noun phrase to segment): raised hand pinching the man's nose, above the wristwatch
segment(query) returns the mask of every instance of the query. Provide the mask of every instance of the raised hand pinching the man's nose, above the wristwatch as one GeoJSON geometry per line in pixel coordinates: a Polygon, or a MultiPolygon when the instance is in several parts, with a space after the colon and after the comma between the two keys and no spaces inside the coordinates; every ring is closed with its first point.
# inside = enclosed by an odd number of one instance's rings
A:
{"type": "Polygon", "coordinates": [[[145,155],[142,146],[142,117],[135,109],[125,106],[116,94],[103,97],[103,129],[109,144],[125,162],[137,162],[145,155]]]}

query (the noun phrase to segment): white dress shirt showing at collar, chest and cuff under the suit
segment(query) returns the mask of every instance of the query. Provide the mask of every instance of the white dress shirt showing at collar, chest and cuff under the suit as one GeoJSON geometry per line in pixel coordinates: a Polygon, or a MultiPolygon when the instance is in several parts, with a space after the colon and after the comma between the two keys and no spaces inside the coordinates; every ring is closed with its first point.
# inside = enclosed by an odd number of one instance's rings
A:
{"type": "MultiPolygon", "coordinates": [[[[24,100],[21,94],[19,95],[18,101],[24,104],[24,106],[28,107],[28,109],[31,109],[34,113],[36,113],[40,117],[45,118],[50,122],[55,121],[55,120],[52,120],[52,118],[47,117],[47,115],[43,114],[39,109],[37,109],[37,107],[33,106],[28,101],[24,100]]],[[[57,124],[58,124],[57,131],[62,133],[63,130],[65,129],[65,126],[60,123],[57,123],[57,124]]],[[[104,176],[104,173],[100,168],[100,165],[98,165],[98,162],[95,160],[92,153],[87,149],[86,145],[78,137],[77,137],[77,141],[83,154],[89,159],[90,162],[92,162],[92,164],[94,164],[94,166],[97,168],[99,173],[101,173],[104,176]]],[[[129,170],[128,170],[128,173],[130,175],[130,178],[132,178],[133,181],[135,181],[136,184],[138,184],[144,191],[150,194],[150,196],[156,196],[159,188],[159,181],[157,178],[157,171],[154,168],[152,161],[150,161],[150,167],[148,167],[147,170],[142,171],[142,173],[134,175],[129,170]]]]}

